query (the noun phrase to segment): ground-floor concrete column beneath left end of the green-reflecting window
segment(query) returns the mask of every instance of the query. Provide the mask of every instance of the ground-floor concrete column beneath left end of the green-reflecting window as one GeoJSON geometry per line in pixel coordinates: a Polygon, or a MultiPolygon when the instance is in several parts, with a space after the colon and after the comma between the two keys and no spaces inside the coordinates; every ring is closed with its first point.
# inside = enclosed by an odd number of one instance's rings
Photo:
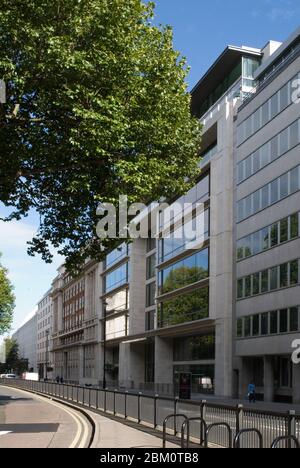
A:
{"type": "Polygon", "coordinates": [[[173,384],[173,340],[155,337],[155,383],[173,384]]]}

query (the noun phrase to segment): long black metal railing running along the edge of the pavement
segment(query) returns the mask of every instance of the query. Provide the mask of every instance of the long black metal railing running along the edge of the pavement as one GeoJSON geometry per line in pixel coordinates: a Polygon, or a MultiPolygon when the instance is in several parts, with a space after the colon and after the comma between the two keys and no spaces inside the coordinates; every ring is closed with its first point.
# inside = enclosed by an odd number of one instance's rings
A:
{"type": "MultiPolygon", "coordinates": [[[[210,428],[207,443],[220,447],[228,447],[229,429],[232,438],[236,437],[240,431],[250,430],[250,432],[243,433],[240,441],[241,448],[257,447],[259,441],[257,435],[253,433],[253,429],[262,434],[265,448],[270,448],[277,438],[294,437],[297,440],[300,438],[300,415],[296,415],[294,411],[284,413],[259,409],[250,410],[242,405],[220,405],[205,400],[183,401],[158,394],[147,395],[142,392],[101,390],[49,381],[0,379],[0,384],[73,402],[160,431],[163,430],[164,421],[171,414],[174,417],[185,415],[187,419],[195,420],[196,418],[200,423],[202,421],[202,426],[204,426],[203,421],[205,422],[205,431],[207,427],[210,428]]],[[[205,438],[202,440],[205,431],[200,430],[198,423],[194,422],[190,425],[189,436],[193,442],[198,441],[198,444],[203,446],[203,442],[206,443],[205,438]]],[[[174,431],[174,418],[173,421],[170,418],[167,422],[165,421],[165,431],[174,431]]],[[[176,424],[175,432],[177,432],[176,424]]],[[[178,443],[180,443],[179,439],[178,443]]]]}

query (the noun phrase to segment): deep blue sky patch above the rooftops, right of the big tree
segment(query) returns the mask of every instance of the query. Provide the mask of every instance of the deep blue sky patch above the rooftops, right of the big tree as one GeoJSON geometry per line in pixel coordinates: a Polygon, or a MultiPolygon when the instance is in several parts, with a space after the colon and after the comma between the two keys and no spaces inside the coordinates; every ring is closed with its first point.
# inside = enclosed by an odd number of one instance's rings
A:
{"type": "Polygon", "coordinates": [[[299,0],[157,0],[156,22],[174,29],[177,50],[191,66],[193,87],[226,45],[263,47],[298,26],[299,0]]]}

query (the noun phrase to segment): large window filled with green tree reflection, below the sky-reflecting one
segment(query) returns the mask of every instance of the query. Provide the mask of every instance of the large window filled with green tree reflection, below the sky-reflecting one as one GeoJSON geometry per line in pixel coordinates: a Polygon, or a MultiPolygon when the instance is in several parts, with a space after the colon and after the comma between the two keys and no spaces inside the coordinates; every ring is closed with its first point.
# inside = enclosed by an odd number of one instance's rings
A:
{"type": "Polygon", "coordinates": [[[181,294],[159,304],[158,327],[194,322],[209,315],[209,289],[201,288],[181,294]]]}

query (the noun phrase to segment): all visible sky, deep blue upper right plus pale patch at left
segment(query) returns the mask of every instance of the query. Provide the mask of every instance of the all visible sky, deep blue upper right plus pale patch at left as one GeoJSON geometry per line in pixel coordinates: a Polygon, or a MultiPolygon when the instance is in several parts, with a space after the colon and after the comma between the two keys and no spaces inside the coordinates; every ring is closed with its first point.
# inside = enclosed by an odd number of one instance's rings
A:
{"type": "MultiPolygon", "coordinates": [[[[299,0],[157,0],[156,5],[155,22],[173,27],[175,48],[191,67],[189,89],[228,44],[261,48],[270,39],[283,41],[300,18],[299,0]]],[[[26,242],[37,227],[34,213],[19,222],[0,223],[1,262],[15,287],[14,329],[50,288],[63,260],[55,255],[53,264],[46,265],[27,256],[26,242]]]]}

